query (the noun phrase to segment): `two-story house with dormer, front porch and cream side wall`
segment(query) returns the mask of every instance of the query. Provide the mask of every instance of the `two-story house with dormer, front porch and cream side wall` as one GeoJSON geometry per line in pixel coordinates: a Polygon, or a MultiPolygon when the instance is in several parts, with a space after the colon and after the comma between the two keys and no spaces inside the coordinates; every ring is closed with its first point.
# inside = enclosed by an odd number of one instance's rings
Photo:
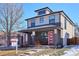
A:
{"type": "Polygon", "coordinates": [[[35,10],[37,15],[26,19],[25,33],[28,45],[67,45],[75,37],[75,24],[64,11],[52,11],[48,7],[35,10]]]}

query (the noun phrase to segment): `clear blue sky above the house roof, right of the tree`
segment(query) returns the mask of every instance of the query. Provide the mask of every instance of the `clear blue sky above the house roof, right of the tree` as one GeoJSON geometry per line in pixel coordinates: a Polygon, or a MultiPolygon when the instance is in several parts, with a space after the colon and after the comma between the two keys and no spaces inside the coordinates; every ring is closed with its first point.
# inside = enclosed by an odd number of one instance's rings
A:
{"type": "Polygon", "coordinates": [[[79,4],[77,3],[26,3],[23,4],[24,15],[22,19],[36,16],[34,11],[43,7],[49,7],[53,11],[63,10],[73,22],[79,22],[79,4]]]}

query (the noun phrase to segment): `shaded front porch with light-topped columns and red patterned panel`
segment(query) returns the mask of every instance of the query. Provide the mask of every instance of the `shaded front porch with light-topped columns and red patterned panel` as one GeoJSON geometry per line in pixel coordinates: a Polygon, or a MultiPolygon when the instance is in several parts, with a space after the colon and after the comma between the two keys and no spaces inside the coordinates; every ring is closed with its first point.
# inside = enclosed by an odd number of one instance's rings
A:
{"type": "Polygon", "coordinates": [[[59,27],[26,29],[21,32],[26,33],[28,46],[62,45],[61,28],[59,27]]]}

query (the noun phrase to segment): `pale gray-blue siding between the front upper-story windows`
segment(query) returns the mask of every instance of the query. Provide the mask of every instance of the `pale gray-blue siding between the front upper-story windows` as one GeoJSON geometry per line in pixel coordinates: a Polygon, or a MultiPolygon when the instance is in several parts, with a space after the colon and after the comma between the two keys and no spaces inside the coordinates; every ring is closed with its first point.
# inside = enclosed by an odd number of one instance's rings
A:
{"type": "MultiPolygon", "coordinates": [[[[59,13],[56,13],[56,14],[53,14],[53,15],[55,16],[55,23],[58,23],[59,22],[59,13]]],[[[49,16],[50,15],[43,16],[44,17],[44,22],[43,23],[40,23],[40,17],[34,18],[35,19],[35,26],[49,24],[49,16]]],[[[27,21],[27,27],[31,27],[30,20],[32,20],[32,19],[29,19],[27,21]]]]}

